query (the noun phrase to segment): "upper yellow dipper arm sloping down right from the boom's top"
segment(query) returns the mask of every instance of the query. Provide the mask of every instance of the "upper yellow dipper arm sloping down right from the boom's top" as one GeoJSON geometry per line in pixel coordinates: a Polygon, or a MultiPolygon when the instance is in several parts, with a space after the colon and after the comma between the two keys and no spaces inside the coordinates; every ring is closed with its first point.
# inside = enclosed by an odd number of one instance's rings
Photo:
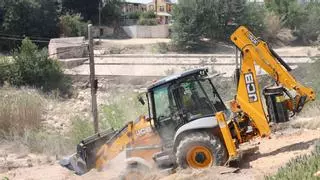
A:
{"type": "MultiPolygon", "coordinates": [[[[265,70],[277,83],[289,90],[295,90],[298,95],[306,98],[306,102],[315,99],[311,88],[305,87],[290,74],[291,68],[272,50],[268,44],[256,38],[247,28],[240,26],[232,35],[231,40],[243,53],[243,64],[251,58],[265,70]]],[[[251,69],[254,69],[251,67],[251,69]]],[[[243,68],[243,73],[247,69],[243,68]]]]}

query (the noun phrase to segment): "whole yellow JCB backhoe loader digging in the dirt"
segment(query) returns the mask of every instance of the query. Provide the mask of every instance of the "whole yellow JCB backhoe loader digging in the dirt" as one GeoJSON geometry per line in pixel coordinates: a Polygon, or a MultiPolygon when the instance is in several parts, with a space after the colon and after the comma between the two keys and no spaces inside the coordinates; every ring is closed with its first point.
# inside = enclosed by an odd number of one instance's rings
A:
{"type": "Polygon", "coordinates": [[[81,175],[93,168],[104,169],[121,151],[126,152],[128,168],[123,177],[143,175],[141,170],[149,168],[226,165],[239,159],[241,144],[269,136],[271,122],[289,121],[290,115],[315,99],[314,91],[297,82],[291,68],[246,27],[238,27],[231,41],[240,50],[241,61],[230,108],[206,68],[165,77],[147,88],[147,101],[139,98],[148,106],[147,117],[82,140],[77,152],[61,160],[61,165],[81,175]],[[256,66],[274,85],[260,90],[256,66]]]}

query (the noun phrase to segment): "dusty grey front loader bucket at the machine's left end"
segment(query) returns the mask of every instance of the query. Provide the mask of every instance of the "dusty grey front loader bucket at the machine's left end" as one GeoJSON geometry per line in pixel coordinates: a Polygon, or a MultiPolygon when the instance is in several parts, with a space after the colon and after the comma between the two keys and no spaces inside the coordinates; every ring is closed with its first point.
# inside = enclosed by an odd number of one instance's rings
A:
{"type": "Polygon", "coordinates": [[[78,175],[83,175],[95,167],[99,148],[117,133],[113,129],[97,133],[80,141],[77,152],[60,160],[59,164],[78,175]]]}

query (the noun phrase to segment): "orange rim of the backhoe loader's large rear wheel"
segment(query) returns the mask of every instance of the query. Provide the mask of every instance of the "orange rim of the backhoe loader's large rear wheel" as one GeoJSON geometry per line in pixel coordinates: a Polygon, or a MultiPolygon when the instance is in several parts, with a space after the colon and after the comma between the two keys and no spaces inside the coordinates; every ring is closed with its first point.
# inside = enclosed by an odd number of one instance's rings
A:
{"type": "Polygon", "coordinates": [[[189,167],[199,169],[210,167],[213,163],[213,156],[210,149],[204,146],[194,146],[187,152],[189,167]]]}

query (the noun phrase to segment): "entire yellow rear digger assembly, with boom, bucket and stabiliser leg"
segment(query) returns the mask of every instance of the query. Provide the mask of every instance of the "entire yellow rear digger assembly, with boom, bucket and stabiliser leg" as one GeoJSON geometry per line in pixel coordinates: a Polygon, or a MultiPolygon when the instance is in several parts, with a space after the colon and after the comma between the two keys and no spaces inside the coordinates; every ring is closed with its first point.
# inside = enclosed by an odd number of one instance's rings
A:
{"type": "Polygon", "coordinates": [[[290,74],[291,68],[269,48],[268,44],[256,38],[246,27],[238,27],[231,35],[231,40],[242,54],[240,72],[237,73],[237,95],[231,102],[231,110],[237,116],[233,117],[232,121],[229,121],[231,124],[227,126],[225,115],[222,112],[216,114],[230,159],[239,155],[234,142],[241,144],[256,135],[269,136],[270,120],[284,122],[282,119],[288,119],[288,111],[294,114],[300,112],[305,103],[313,101],[316,97],[311,88],[297,82],[290,74]],[[269,74],[276,84],[263,89],[268,116],[264,112],[256,66],[260,66],[269,74]],[[295,91],[295,97],[289,91],[295,91]],[[273,99],[268,99],[270,97],[273,99]],[[232,137],[232,134],[235,135],[232,137]]]}

